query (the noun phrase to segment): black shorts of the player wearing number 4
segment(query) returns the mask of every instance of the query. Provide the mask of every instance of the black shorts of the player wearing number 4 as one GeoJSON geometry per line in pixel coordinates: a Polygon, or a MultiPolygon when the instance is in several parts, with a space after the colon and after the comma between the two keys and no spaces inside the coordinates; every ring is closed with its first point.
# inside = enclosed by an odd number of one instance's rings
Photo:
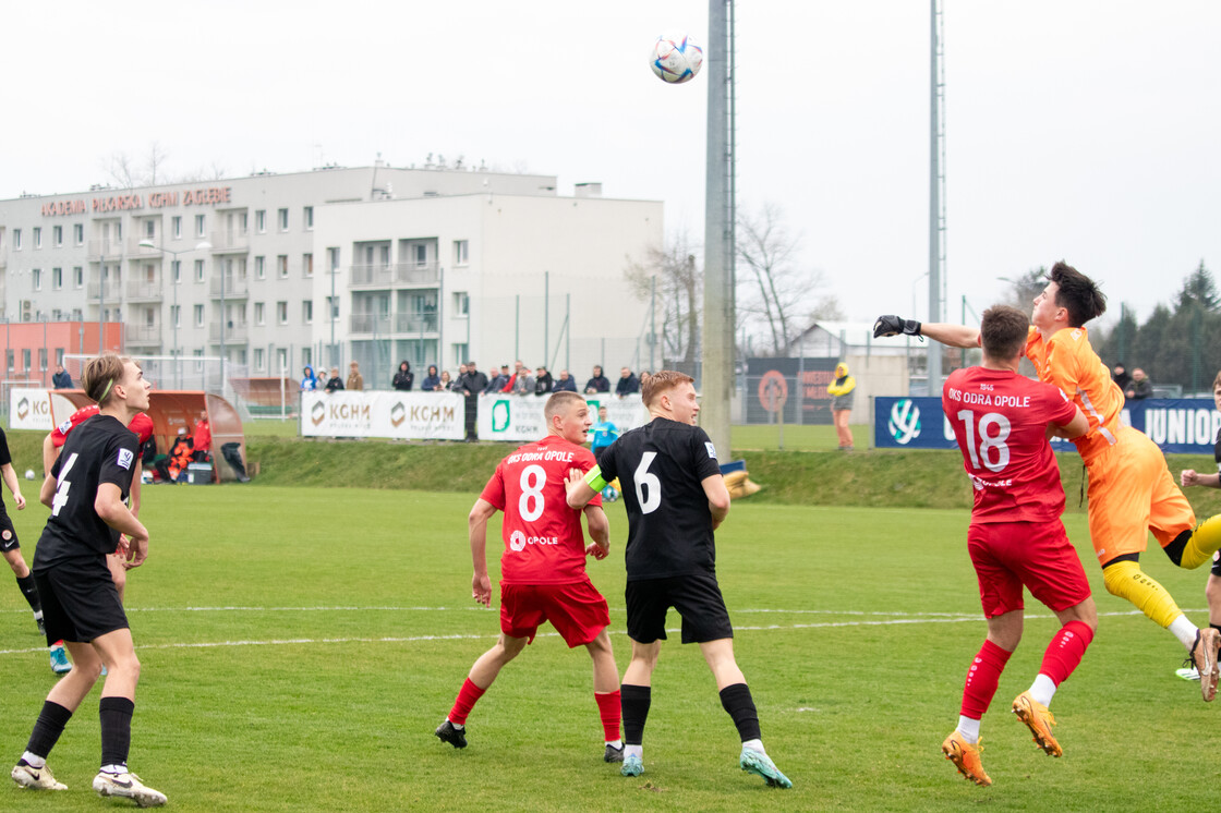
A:
{"type": "Polygon", "coordinates": [[[48,645],[61,638],[88,643],[106,632],[128,629],[105,555],[35,570],[34,582],[43,602],[48,645]]]}

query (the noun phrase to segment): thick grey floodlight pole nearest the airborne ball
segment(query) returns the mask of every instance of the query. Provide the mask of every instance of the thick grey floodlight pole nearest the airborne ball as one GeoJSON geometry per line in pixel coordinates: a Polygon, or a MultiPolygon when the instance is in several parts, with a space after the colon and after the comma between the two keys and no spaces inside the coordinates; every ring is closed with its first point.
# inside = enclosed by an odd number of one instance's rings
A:
{"type": "Polygon", "coordinates": [[[734,0],[708,0],[707,187],[703,226],[703,337],[700,425],[729,459],[729,404],[734,383],[734,0]]]}

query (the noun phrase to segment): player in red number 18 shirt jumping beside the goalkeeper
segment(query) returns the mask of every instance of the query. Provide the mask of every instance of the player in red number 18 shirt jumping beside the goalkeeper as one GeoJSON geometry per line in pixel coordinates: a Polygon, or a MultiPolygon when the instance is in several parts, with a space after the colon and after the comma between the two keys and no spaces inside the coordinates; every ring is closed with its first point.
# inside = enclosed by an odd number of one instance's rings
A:
{"type": "Polygon", "coordinates": [[[941,408],[974,487],[967,548],[988,619],[988,637],[967,671],[958,726],[941,751],[977,785],[991,784],[979,761],[979,721],[1022,640],[1022,585],[1061,624],[1031,688],[1013,701],[1013,713],[1053,757],[1062,750],[1051,734],[1056,721],[1048,704],[1081,663],[1098,627],[1085,570],[1060,521],[1065,494],[1048,443],[1049,430],[1079,437],[1089,421],[1057,387],[1018,374],[1027,326],[1026,314],[1016,308],[984,311],[983,365],[955,370],[941,393],[941,408]]]}

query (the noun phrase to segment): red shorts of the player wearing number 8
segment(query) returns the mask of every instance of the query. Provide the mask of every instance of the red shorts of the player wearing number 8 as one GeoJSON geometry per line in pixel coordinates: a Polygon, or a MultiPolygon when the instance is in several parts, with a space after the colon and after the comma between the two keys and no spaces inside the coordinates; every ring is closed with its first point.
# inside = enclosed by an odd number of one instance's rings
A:
{"type": "Polygon", "coordinates": [[[610,610],[589,579],[570,585],[501,582],[501,632],[532,642],[543,621],[551,621],[571,648],[598,637],[610,625],[610,610]]]}

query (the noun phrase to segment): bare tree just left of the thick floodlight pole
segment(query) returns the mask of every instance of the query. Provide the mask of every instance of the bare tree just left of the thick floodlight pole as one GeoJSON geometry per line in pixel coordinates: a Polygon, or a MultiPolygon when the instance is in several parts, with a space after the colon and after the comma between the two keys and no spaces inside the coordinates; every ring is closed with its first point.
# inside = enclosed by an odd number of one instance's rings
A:
{"type": "Polygon", "coordinates": [[[665,248],[628,258],[624,276],[641,300],[657,297],[662,359],[694,364],[700,352],[700,303],[703,272],[685,234],[665,248]]]}

